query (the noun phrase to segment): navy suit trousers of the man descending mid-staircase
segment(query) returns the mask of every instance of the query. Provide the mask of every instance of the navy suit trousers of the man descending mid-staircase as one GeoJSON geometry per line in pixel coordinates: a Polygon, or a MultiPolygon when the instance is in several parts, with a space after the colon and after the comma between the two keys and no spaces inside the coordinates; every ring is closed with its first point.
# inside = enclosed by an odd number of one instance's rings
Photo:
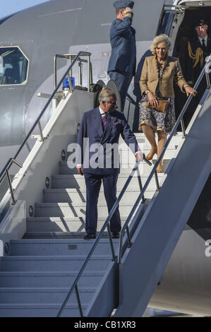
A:
{"type": "MultiPolygon", "coordinates": [[[[116,201],[116,182],[118,173],[116,174],[89,174],[84,173],[85,185],[87,190],[87,203],[85,213],[85,231],[88,234],[96,234],[97,231],[97,201],[100,194],[100,186],[103,182],[104,196],[107,202],[108,212],[114,206],[116,201]]],[[[104,221],[107,215],[104,215],[104,221]]],[[[116,208],[114,215],[110,220],[111,232],[119,232],[121,230],[121,220],[119,207],[116,208]]]]}

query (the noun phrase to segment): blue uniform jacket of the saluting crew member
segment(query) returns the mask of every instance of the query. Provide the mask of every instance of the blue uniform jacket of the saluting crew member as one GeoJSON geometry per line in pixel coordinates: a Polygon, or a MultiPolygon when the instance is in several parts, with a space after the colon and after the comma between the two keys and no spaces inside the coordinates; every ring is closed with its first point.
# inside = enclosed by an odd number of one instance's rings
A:
{"type": "Polygon", "coordinates": [[[135,29],[131,27],[131,23],[131,18],[125,17],[123,20],[116,18],[111,25],[111,57],[108,73],[109,71],[123,71],[135,75],[135,29]]]}

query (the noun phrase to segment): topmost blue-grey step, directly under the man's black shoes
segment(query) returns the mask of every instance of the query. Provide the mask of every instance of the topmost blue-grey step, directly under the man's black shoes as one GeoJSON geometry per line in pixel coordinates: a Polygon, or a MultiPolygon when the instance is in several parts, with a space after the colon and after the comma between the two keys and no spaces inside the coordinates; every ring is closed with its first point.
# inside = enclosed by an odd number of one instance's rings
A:
{"type": "MultiPolygon", "coordinates": [[[[13,239],[10,254],[11,256],[87,255],[94,242],[95,239],[13,239]]],[[[117,249],[119,239],[113,239],[113,243],[114,249],[117,249]]],[[[109,239],[100,239],[93,255],[108,255],[110,252],[109,239]]]]}

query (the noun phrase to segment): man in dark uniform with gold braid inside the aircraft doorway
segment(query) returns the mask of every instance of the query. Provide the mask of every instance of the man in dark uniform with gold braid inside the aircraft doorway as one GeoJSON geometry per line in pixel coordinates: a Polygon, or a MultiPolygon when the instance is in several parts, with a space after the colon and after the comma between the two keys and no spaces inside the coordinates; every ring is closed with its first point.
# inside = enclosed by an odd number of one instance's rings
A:
{"type": "MultiPolygon", "coordinates": [[[[195,82],[198,80],[198,76],[200,76],[200,72],[205,66],[205,59],[211,53],[211,38],[207,35],[207,20],[200,18],[195,21],[193,27],[196,32],[196,36],[188,41],[186,51],[186,66],[183,73],[187,83],[191,86],[195,85],[195,82]]],[[[186,126],[191,120],[191,117],[193,116],[193,113],[195,112],[195,109],[200,102],[200,99],[203,96],[206,88],[207,81],[204,76],[197,88],[198,95],[196,95],[196,97],[191,100],[191,104],[186,110],[184,116],[184,122],[186,126]]]]}

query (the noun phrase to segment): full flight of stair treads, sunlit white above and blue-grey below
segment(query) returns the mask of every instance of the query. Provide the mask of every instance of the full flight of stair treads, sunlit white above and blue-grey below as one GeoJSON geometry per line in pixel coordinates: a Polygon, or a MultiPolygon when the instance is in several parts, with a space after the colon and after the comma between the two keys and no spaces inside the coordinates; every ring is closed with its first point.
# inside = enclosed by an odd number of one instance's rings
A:
{"type": "MultiPolygon", "coordinates": [[[[147,153],[149,146],[143,134],[136,134],[138,143],[147,153]]],[[[176,153],[181,134],[174,136],[165,155],[164,165],[176,153]]],[[[117,196],[131,172],[128,160],[134,156],[121,139],[121,173],[117,196]]],[[[133,165],[133,164],[132,164],[133,165]]],[[[140,166],[143,184],[151,168],[140,166]]],[[[159,174],[162,179],[162,174],[159,174]]],[[[0,316],[56,316],[76,278],[94,240],[85,235],[85,180],[68,168],[67,161],[59,162],[59,174],[52,175],[52,188],[43,190],[42,203],[35,204],[35,217],[28,218],[23,239],[13,239],[10,255],[1,259],[0,316]]],[[[147,203],[156,191],[155,180],[145,192],[147,203]]],[[[138,179],[133,177],[120,204],[122,224],[140,194],[138,179]]],[[[98,203],[100,230],[107,216],[104,194],[98,203]]],[[[132,222],[133,224],[133,222],[132,222]]],[[[114,239],[118,254],[119,239],[114,239]]],[[[119,303],[118,265],[112,261],[107,232],[100,240],[82,278],[78,292],[85,316],[109,316],[119,303]],[[114,283],[115,280],[115,283],[114,283]],[[99,303],[106,302],[101,306],[99,303]]],[[[62,316],[80,316],[76,292],[68,300],[62,316]]]]}

